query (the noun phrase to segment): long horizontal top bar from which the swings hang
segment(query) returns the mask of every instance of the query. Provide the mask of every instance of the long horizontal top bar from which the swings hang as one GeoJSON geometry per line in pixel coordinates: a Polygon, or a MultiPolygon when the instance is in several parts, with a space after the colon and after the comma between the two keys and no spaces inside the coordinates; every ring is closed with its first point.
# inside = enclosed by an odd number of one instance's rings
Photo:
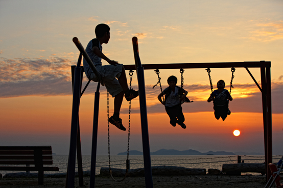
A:
{"type": "MultiPolygon", "coordinates": [[[[232,68],[232,67],[271,67],[270,61],[223,62],[223,63],[168,63],[144,64],[144,69],[180,69],[180,68],[232,68]]],[[[135,70],[135,65],[124,65],[125,70],[135,70]]]]}

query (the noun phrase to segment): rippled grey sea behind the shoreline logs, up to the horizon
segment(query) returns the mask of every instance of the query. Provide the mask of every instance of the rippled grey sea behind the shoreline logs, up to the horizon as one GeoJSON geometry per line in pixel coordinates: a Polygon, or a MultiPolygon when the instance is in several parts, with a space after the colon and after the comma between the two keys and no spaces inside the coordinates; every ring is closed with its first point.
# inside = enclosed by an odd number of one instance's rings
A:
{"type": "MultiPolygon", "coordinates": [[[[281,155],[273,156],[273,163],[277,163],[281,155]]],[[[110,167],[126,169],[126,155],[111,155],[110,167]]],[[[144,168],[143,155],[129,155],[130,169],[144,168]]],[[[90,155],[82,156],[83,171],[90,171],[90,155]]],[[[53,155],[53,165],[59,168],[59,172],[44,172],[45,174],[66,173],[68,155],[53,155]]],[[[238,163],[238,155],[151,155],[151,166],[176,166],[185,168],[201,168],[222,170],[223,164],[238,163]]],[[[241,163],[265,163],[264,155],[241,155],[241,163]]],[[[76,171],[78,171],[76,164],[76,171]]],[[[100,174],[102,167],[109,168],[109,156],[97,155],[96,175],[100,174]]],[[[6,173],[16,171],[0,171],[4,176],[6,173]]],[[[20,171],[19,171],[20,172],[20,171]]],[[[22,172],[22,171],[21,171],[22,172]]],[[[32,173],[32,171],[31,171],[32,173]]],[[[242,173],[251,175],[262,175],[261,173],[242,173]]]]}

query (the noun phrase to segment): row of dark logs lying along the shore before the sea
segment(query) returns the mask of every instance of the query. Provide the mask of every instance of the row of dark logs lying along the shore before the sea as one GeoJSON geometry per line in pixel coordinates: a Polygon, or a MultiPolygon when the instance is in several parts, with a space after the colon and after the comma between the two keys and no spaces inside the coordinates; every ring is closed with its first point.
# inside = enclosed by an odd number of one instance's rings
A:
{"type": "MultiPolygon", "coordinates": [[[[223,164],[222,171],[219,169],[198,169],[198,168],[185,168],[185,167],[176,167],[176,166],[155,166],[152,168],[153,176],[187,176],[187,175],[241,175],[242,172],[247,173],[262,173],[265,174],[265,164],[263,163],[239,163],[239,164],[223,164]]],[[[111,168],[112,175],[115,177],[124,177],[126,170],[125,169],[116,169],[111,168]]],[[[83,175],[88,177],[90,176],[90,171],[84,171],[83,175]]],[[[102,167],[100,169],[101,176],[109,176],[109,168],[102,167]]],[[[76,172],[78,177],[78,172],[76,172]]],[[[144,168],[138,169],[129,169],[127,177],[144,177],[145,171],[144,168]]],[[[38,177],[38,173],[7,173],[4,178],[19,178],[19,177],[38,177]]],[[[49,178],[58,178],[66,177],[66,173],[55,173],[55,174],[44,174],[44,177],[49,178]]]]}

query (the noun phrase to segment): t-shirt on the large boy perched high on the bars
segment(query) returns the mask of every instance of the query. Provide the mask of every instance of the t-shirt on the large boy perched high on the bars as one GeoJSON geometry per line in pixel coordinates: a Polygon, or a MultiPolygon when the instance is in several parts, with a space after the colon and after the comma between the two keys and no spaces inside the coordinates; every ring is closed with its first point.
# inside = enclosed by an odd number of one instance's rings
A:
{"type": "MultiPolygon", "coordinates": [[[[91,41],[89,41],[89,43],[87,44],[85,51],[87,52],[87,55],[89,56],[89,58],[91,59],[92,63],[95,66],[100,66],[102,65],[101,62],[101,58],[98,57],[93,51],[92,48],[97,46],[98,49],[102,52],[102,45],[100,44],[98,39],[92,39],[91,41]]],[[[87,77],[90,76],[92,70],[89,67],[88,63],[85,61],[85,59],[83,60],[83,65],[84,65],[84,71],[87,77]]]]}

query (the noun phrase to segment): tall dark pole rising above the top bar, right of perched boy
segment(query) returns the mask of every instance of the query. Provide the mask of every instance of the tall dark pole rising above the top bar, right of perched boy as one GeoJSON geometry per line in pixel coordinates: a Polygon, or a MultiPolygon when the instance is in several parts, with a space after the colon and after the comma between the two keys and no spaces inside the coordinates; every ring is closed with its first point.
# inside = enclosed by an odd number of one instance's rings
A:
{"type": "Polygon", "coordinates": [[[144,152],[144,166],[145,166],[145,180],[146,187],[153,187],[152,171],[151,171],[151,158],[149,147],[149,133],[148,133],[148,118],[147,118],[147,104],[146,104],[146,89],[145,89],[145,76],[144,67],[141,66],[141,62],[138,55],[137,38],[133,37],[133,48],[135,65],[137,70],[138,92],[139,92],[139,108],[141,119],[141,136],[143,140],[143,152],[144,152]]]}

